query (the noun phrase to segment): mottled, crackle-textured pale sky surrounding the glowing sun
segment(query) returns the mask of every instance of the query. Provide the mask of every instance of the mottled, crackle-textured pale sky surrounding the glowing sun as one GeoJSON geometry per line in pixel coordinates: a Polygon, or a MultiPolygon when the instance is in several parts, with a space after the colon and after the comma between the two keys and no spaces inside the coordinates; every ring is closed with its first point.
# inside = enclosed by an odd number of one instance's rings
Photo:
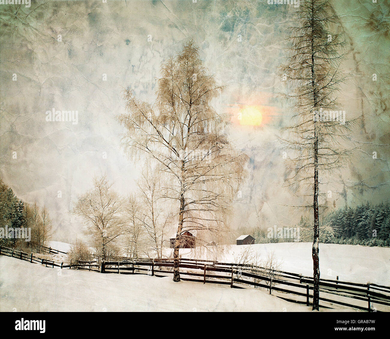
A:
{"type": "MultiPolygon", "coordinates": [[[[255,225],[259,206],[263,227],[296,222],[302,212],[282,206],[296,198],[283,188],[285,150],[276,137],[290,122],[277,96],[284,84],[276,73],[295,10],[266,0],[0,5],[2,179],[21,199],[46,204],[59,236],[73,236],[81,223],[69,210],[91,188],[94,174],[106,172],[121,194],[135,186],[142,159],[126,159],[123,129],[115,121],[124,112],[122,90],[130,86],[153,103],[161,62],[193,38],[206,67],[226,86],[216,109],[235,117],[246,106],[258,106],[264,114],[257,127],[232,119],[229,133],[251,158],[234,227],[255,225]],[[46,121],[53,108],[77,110],[78,123],[46,121]]],[[[388,200],[390,147],[380,145],[390,144],[389,10],[389,1],[334,1],[348,42],[342,69],[349,78],[339,93],[340,109],[347,119],[364,115],[351,135],[363,143],[362,151],[341,177],[322,185],[323,192],[332,190],[337,208],[344,206],[340,180],[363,188],[382,185],[365,192],[347,188],[350,204],[388,200]]]]}

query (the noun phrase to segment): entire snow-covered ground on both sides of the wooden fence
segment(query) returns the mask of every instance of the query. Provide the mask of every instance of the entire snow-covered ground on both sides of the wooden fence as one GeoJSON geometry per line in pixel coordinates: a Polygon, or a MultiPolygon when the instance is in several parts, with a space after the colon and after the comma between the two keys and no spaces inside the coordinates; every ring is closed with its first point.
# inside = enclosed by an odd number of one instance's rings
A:
{"type": "MultiPolygon", "coordinates": [[[[69,250],[66,243],[53,241],[50,246],[69,250]]],[[[282,270],[312,275],[310,243],[229,245],[218,250],[218,257],[199,250],[181,249],[180,253],[183,257],[235,262],[246,250],[260,259],[274,252],[282,263],[282,270]]],[[[170,251],[167,248],[166,254],[170,251]]],[[[333,279],[339,275],[340,280],[390,285],[390,248],[320,244],[320,268],[323,278],[333,279]]],[[[337,311],[352,311],[337,305],[333,307],[337,311]]],[[[61,270],[0,256],[0,311],[14,310],[311,311],[310,307],[269,296],[265,289],[230,289],[188,281],[174,283],[172,277],[61,270]]]]}

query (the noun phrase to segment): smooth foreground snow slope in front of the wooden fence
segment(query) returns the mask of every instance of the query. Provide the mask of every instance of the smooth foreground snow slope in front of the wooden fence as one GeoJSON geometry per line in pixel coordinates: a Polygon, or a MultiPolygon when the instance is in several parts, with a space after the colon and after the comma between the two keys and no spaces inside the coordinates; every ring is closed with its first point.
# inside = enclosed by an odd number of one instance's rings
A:
{"type": "Polygon", "coordinates": [[[46,268],[0,256],[0,311],[309,312],[259,289],[46,268]]]}

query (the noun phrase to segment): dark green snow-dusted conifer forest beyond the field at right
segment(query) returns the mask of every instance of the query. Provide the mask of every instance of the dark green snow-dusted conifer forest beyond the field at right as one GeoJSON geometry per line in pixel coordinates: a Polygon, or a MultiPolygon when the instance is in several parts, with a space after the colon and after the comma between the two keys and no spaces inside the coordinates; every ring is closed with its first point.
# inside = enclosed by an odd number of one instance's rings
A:
{"type": "MultiPolygon", "coordinates": [[[[301,217],[298,224],[300,240],[312,240],[312,222],[301,217]]],[[[273,228],[273,227],[271,227],[273,228]]],[[[271,236],[268,229],[241,227],[237,234],[250,234],[255,243],[296,241],[294,238],[271,236]]],[[[364,246],[390,246],[390,203],[371,205],[369,202],[356,207],[336,209],[320,221],[320,242],[364,246]]]]}

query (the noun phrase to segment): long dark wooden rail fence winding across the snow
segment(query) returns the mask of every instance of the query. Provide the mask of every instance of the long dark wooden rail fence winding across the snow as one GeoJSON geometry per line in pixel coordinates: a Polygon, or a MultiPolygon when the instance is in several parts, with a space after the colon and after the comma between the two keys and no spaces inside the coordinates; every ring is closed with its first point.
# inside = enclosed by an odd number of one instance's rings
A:
{"type": "MultiPolygon", "coordinates": [[[[50,248],[53,251],[52,248],[50,248]]],[[[59,252],[59,251],[58,251],[59,252]]],[[[55,253],[55,252],[54,252],[55,253]]],[[[62,252],[64,253],[64,252],[62,252]]],[[[147,274],[156,277],[166,277],[173,273],[172,259],[126,259],[119,261],[103,261],[101,265],[96,261],[81,261],[76,264],[64,265],[35,257],[13,248],[0,246],[0,254],[16,257],[30,263],[40,263],[46,267],[76,268],[100,273],[119,274],[147,274]]],[[[278,292],[278,297],[285,300],[310,305],[313,291],[313,278],[281,270],[268,270],[261,266],[250,264],[220,263],[211,260],[196,260],[181,258],[179,263],[181,280],[203,282],[211,284],[230,285],[231,288],[266,288],[269,294],[278,292]],[[287,295],[303,297],[303,300],[291,300],[287,295]]],[[[390,287],[378,284],[359,284],[355,282],[320,279],[320,300],[332,304],[353,307],[364,311],[374,311],[373,303],[390,307],[390,287]],[[325,295],[325,296],[324,296],[325,295]],[[337,297],[337,298],[336,298],[337,297]],[[348,298],[347,300],[340,300],[348,298]],[[351,304],[349,300],[360,302],[351,304]],[[362,302],[367,306],[363,306],[362,302]]],[[[321,305],[321,307],[329,307],[321,305]]]]}

